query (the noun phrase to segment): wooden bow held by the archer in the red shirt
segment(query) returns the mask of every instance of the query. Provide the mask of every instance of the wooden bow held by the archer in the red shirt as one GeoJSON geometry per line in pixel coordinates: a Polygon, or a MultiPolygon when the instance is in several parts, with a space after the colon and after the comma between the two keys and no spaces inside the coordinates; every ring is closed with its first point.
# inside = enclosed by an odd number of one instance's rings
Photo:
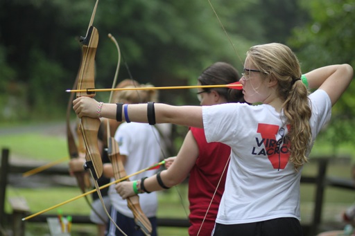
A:
{"type": "MultiPolygon", "coordinates": [[[[119,65],[121,64],[121,51],[119,48],[119,44],[116,39],[109,34],[108,37],[114,42],[117,48],[117,53],[119,55],[119,59],[116,66],[116,73],[114,75],[114,82],[112,83],[112,89],[115,87],[116,80],[119,74],[119,65]]],[[[109,103],[112,102],[113,91],[110,93],[109,103]]],[[[121,179],[127,176],[125,172],[125,168],[122,162],[121,155],[119,154],[119,144],[112,137],[110,131],[110,120],[107,119],[107,154],[112,163],[112,168],[114,170],[114,179],[121,179]]],[[[128,179],[127,179],[128,180],[128,179]]],[[[143,210],[141,210],[141,206],[139,204],[139,196],[135,195],[127,199],[128,208],[133,213],[135,218],[135,224],[137,227],[144,233],[144,235],[150,235],[152,233],[152,226],[150,224],[149,219],[144,214],[143,210]]]]}

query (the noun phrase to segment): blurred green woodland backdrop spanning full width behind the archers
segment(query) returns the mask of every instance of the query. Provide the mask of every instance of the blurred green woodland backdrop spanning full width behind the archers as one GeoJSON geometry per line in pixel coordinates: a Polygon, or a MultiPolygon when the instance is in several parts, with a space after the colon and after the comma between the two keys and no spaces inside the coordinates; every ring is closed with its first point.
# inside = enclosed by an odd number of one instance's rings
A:
{"type": "MultiPolygon", "coordinates": [[[[132,75],[138,82],[156,87],[195,85],[202,70],[217,61],[228,62],[242,71],[248,48],[270,42],[290,46],[303,73],[329,64],[347,63],[355,68],[354,0],[211,3],[230,39],[207,0],[101,0],[93,24],[100,35],[96,88],[112,87],[117,51],[107,37],[109,33],[118,41],[123,56],[118,80],[132,75]]],[[[44,155],[43,145],[31,154],[33,150],[28,150],[35,149],[35,144],[21,154],[23,147],[15,145],[19,137],[11,139],[12,129],[21,127],[21,131],[26,131],[23,125],[64,124],[69,100],[69,93],[64,91],[73,87],[78,73],[78,38],[87,32],[94,4],[94,0],[0,1],[1,147],[10,147],[19,156],[51,156],[44,155]]],[[[346,156],[350,160],[347,167],[354,163],[354,92],[352,83],[334,106],[331,122],[321,132],[313,156],[346,156]]],[[[96,94],[97,100],[102,101],[107,101],[108,96],[108,92],[96,94]]],[[[159,100],[171,105],[199,104],[196,90],[159,91],[159,100]]],[[[71,116],[76,118],[73,112],[71,116]]],[[[64,125],[59,129],[64,130],[64,125]]],[[[173,127],[176,149],[186,130],[173,127]]],[[[57,126],[53,132],[60,132],[57,126]]],[[[21,145],[31,141],[33,137],[21,140],[21,145]]],[[[64,150],[63,154],[55,154],[57,158],[66,155],[64,138],[55,143],[64,150]]],[[[348,170],[338,172],[347,177],[348,170]]],[[[355,200],[349,195],[345,199],[344,207],[355,200]]]]}

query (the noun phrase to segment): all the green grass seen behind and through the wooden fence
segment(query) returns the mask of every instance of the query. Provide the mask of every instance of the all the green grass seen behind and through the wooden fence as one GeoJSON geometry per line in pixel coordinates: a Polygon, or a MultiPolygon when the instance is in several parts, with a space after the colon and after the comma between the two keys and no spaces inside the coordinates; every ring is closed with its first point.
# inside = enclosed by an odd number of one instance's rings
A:
{"type": "MultiPolygon", "coordinates": [[[[0,148],[10,149],[10,158],[28,158],[44,163],[51,162],[67,156],[67,141],[60,134],[65,129],[56,124],[49,124],[46,131],[37,125],[13,127],[18,131],[1,131],[0,132],[0,148]]],[[[3,130],[3,129],[0,129],[3,130]]],[[[354,153],[355,149],[351,145],[344,145],[340,148],[340,156],[354,153]]],[[[312,158],[316,156],[329,156],[332,153],[331,147],[315,143],[312,151],[312,158]]],[[[352,156],[351,156],[352,157],[352,156]]],[[[352,157],[354,158],[354,157],[352,157]]],[[[351,164],[354,159],[343,164],[331,164],[327,170],[330,176],[338,176],[350,179],[351,164]]],[[[304,174],[314,176],[317,169],[314,163],[308,163],[304,167],[304,174]]],[[[80,194],[76,188],[8,188],[9,196],[24,196],[31,208],[32,212],[44,210],[49,206],[60,203],[64,200],[80,194]]],[[[301,185],[301,214],[302,223],[310,222],[313,217],[313,201],[315,194],[314,185],[301,185]]],[[[187,219],[189,212],[189,204],[187,201],[187,188],[185,185],[171,188],[170,190],[159,192],[159,207],[157,217],[171,217],[187,219]],[[177,191],[181,194],[181,199],[177,191]],[[182,207],[184,205],[184,208],[182,207]]],[[[339,220],[340,212],[345,210],[347,206],[355,201],[354,191],[342,190],[339,188],[327,188],[324,193],[323,220],[336,221],[339,220]]],[[[78,199],[73,203],[68,203],[60,207],[64,214],[89,214],[89,208],[84,199],[78,199]]],[[[6,208],[9,212],[10,209],[6,208]]],[[[55,214],[57,210],[49,213],[55,214]]],[[[48,227],[46,224],[30,223],[26,224],[26,236],[32,235],[48,235],[48,227]]],[[[90,225],[73,225],[72,235],[96,235],[96,228],[90,225]]],[[[170,228],[159,227],[159,235],[187,235],[187,228],[170,228]]]]}

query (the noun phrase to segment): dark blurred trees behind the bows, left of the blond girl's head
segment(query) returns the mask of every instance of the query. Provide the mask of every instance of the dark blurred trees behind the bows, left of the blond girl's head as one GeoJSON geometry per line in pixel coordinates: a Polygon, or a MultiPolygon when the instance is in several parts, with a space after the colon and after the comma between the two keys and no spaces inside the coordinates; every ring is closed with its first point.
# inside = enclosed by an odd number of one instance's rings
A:
{"type": "MultiPolygon", "coordinates": [[[[64,113],[69,98],[64,89],[71,88],[80,64],[78,37],[85,36],[94,3],[94,0],[0,2],[1,85],[6,87],[12,81],[24,88],[21,96],[16,96],[23,105],[23,114],[12,111],[11,117],[0,116],[1,119],[53,118],[64,113]]],[[[129,69],[139,82],[166,86],[196,84],[199,73],[218,60],[230,62],[241,70],[244,52],[254,42],[272,40],[267,32],[282,41],[287,34],[284,32],[290,28],[290,24],[282,23],[287,17],[269,14],[277,6],[275,0],[211,3],[230,39],[205,0],[98,3],[94,19],[100,34],[96,87],[111,87],[116,69],[117,53],[108,33],[116,37],[123,55],[119,80],[130,77],[129,69]],[[272,19],[270,26],[279,24],[277,30],[268,30],[266,18],[272,19]]],[[[294,0],[282,6],[285,13],[297,10],[294,0]]],[[[295,18],[292,21],[298,22],[295,18]]],[[[189,96],[189,91],[169,95],[162,92],[162,102],[196,100],[189,96]]],[[[10,99],[9,93],[0,96],[4,103],[10,99]]]]}

